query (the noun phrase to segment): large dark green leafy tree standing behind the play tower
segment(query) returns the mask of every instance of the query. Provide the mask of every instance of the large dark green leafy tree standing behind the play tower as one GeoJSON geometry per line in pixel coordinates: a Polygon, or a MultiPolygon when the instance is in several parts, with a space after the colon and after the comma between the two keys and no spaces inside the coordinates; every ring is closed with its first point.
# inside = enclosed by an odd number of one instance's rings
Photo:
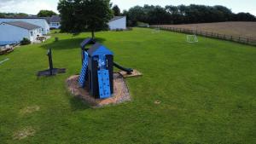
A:
{"type": "Polygon", "coordinates": [[[60,0],[61,32],[79,33],[107,30],[113,17],[110,0],[60,0]]]}

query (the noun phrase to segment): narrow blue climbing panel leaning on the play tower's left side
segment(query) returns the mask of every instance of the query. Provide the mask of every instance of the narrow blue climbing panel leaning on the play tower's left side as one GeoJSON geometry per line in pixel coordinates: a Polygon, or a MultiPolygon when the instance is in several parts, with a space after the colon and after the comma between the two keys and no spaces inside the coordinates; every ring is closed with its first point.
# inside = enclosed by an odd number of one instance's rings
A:
{"type": "Polygon", "coordinates": [[[86,82],[86,75],[87,75],[87,69],[88,69],[88,54],[84,51],[84,62],[82,66],[82,70],[79,77],[79,86],[84,88],[85,82],[86,82]]]}

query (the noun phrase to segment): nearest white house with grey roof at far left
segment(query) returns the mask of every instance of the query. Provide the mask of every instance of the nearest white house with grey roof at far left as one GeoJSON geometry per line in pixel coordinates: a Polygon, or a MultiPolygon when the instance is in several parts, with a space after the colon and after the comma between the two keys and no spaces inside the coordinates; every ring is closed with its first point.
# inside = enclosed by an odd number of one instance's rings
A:
{"type": "Polygon", "coordinates": [[[42,27],[23,21],[10,21],[0,23],[0,42],[20,42],[24,37],[32,42],[42,36],[42,27]]]}

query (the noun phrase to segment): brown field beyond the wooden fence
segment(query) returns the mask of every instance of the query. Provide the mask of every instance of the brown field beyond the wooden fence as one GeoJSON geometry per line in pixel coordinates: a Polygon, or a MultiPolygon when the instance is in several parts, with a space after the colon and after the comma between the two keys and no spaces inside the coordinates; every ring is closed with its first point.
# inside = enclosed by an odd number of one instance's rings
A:
{"type": "Polygon", "coordinates": [[[256,38],[256,22],[218,22],[189,25],[165,25],[177,28],[186,28],[205,32],[256,38]]]}

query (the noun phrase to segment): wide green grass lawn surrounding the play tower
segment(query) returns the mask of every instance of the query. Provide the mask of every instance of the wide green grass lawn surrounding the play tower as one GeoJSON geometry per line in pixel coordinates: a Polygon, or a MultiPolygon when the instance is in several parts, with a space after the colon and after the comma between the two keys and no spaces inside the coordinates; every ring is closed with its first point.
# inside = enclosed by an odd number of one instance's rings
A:
{"type": "Polygon", "coordinates": [[[79,43],[90,33],[52,34],[22,46],[0,65],[0,143],[256,143],[256,48],[150,29],[97,32],[114,61],[143,72],[128,78],[132,101],[93,109],[65,80],[81,69],[79,43]],[[59,37],[59,42],[54,42],[59,37]],[[55,67],[67,73],[37,78],[55,67]],[[160,105],[154,101],[161,101],[160,105]],[[26,107],[38,107],[26,112],[26,107]],[[17,139],[19,132],[31,135],[17,139]]]}

